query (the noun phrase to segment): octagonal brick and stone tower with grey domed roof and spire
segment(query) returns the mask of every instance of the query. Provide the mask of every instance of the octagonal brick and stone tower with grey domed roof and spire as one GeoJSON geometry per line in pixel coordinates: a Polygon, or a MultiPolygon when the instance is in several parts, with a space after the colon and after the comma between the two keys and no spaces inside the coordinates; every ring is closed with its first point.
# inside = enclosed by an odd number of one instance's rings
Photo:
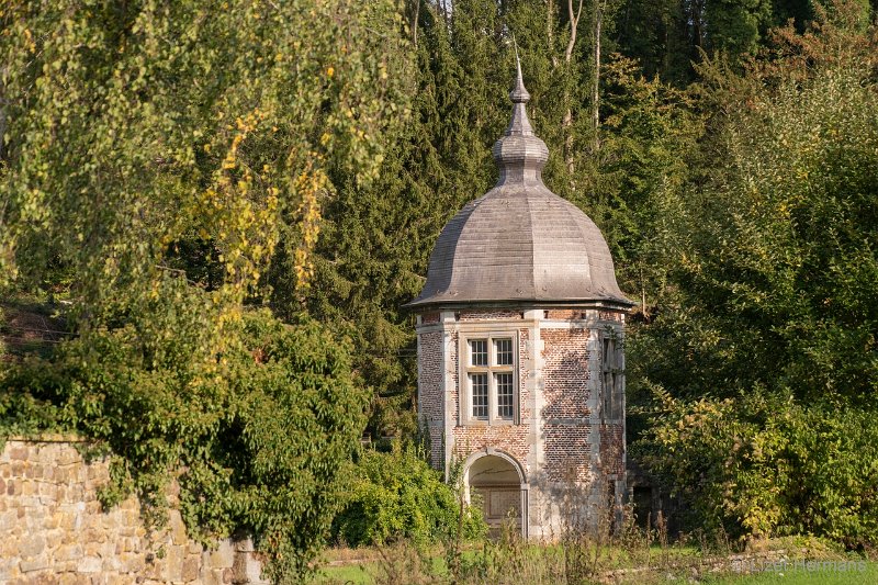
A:
{"type": "Polygon", "coordinates": [[[442,229],[406,306],[434,465],[463,474],[488,524],[514,517],[525,536],[551,538],[621,503],[633,303],[594,222],[543,184],[549,150],[528,120],[520,64],[517,74],[493,148],[499,180],[442,229]]]}

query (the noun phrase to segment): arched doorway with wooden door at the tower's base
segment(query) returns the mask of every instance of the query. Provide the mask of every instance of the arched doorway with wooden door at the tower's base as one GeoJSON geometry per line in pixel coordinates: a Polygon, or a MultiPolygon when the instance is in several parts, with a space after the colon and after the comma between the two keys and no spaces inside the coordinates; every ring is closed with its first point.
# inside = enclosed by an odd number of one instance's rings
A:
{"type": "Polygon", "coordinates": [[[480,505],[491,532],[513,521],[527,536],[527,483],[518,463],[506,453],[488,449],[473,453],[464,475],[468,498],[480,505]]]}

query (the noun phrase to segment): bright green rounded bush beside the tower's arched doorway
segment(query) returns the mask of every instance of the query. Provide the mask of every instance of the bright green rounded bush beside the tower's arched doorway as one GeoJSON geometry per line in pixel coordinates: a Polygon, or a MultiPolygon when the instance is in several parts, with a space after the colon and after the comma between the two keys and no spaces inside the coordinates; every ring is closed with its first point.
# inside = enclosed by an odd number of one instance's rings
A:
{"type": "Polygon", "coordinates": [[[458,530],[462,538],[483,536],[477,510],[461,509],[454,487],[443,483],[441,473],[421,455],[398,442],[389,453],[363,452],[345,509],[335,520],[335,538],[359,547],[397,539],[423,545],[453,539],[458,530]]]}

